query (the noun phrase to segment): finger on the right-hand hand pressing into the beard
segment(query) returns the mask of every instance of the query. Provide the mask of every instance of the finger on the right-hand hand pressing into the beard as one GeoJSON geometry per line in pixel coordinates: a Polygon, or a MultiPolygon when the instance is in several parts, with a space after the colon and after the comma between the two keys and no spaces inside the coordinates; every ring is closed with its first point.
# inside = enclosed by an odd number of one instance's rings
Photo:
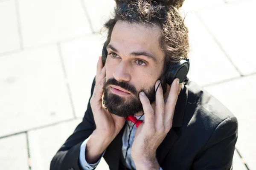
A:
{"type": "Polygon", "coordinates": [[[148,127],[154,127],[154,110],[144,92],[140,92],[140,102],[143,106],[145,125],[148,127]]]}

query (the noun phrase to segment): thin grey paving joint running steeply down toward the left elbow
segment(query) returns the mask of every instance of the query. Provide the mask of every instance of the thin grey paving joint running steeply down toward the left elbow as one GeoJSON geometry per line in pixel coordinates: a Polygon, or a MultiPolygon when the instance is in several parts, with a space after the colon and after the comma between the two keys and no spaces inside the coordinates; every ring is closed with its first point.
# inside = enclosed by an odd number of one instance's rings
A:
{"type": "Polygon", "coordinates": [[[66,79],[67,93],[68,93],[70,104],[71,104],[71,108],[72,108],[72,111],[73,111],[73,116],[74,116],[74,118],[76,118],[74,102],[73,102],[73,99],[72,99],[70,85],[69,85],[69,82],[67,81],[67,72],[66,72],[66,69],[65,69],[63,54],[61,52],[61,45],[60,45],[59,42],[57,42],[57,46],[58,46],[58,54],[59,54],[59,57],[60,57],[60,60],[61,60],[62,71],[64,72],[64,77],[66,79]]]}

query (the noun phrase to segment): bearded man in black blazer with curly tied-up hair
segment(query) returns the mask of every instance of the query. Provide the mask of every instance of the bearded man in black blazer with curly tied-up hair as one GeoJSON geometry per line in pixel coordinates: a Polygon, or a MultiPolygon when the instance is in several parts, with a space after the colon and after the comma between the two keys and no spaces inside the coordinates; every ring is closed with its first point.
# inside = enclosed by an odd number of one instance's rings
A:
{"type": "Polygon", "coordinates": [[[102,156],[111,170],[232,169],[237,119],[194,82],[166,84],[189,51],[180,3],[116,3],[87,111],[50,170],[91,170],[102,156]]]}

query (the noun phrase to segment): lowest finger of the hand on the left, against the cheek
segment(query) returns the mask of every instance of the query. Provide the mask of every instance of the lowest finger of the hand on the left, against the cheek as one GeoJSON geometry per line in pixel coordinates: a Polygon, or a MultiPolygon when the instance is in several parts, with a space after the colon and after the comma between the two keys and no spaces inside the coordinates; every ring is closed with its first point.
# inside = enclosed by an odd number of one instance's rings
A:
{"type": "Polygon", "coordinates": [[[99,85],[94,89],[93,96],[91,98],[91,105],[100,105],[102,103],[102,94],[103,94],[103,86],[105,83],[105,78],[102,79],[102,81],[99,83],[99,85]]]}

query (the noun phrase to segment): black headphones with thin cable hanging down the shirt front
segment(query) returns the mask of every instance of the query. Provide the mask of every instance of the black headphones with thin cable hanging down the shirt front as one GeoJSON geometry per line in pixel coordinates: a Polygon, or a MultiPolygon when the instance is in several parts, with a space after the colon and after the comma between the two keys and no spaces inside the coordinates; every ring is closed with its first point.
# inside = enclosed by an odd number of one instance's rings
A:
{"type": "MultiPolygon", "coordinates": [[[[108,41],[106,41],[104,43],[103,48],[102,48],[102,62],[103,62],[104,65],[106,63],[106,59],[107,59],[107,56],[108,56],[107,45],[108,45],[108,41]]],[[[172,85],[173,80],[176,79],[176,78],[180,79],[180,83],[182,83],[183,81],[187,82],[189,80],[189,78],[187,78],[187,74],[189,73],[189,67],[190,67],[189,59],[187,59],[185,57],[181,57],[181,60],[179,62],[171,63],[167,73],[160,80],[159,85],[161,84],[163,79],[165,79],[166,83],[170,86],[172,85]]],[[[159,85],[157,86],[157,89],[158,89],[159,85]]],[[[157,89],[156,89],[155,93],[157,92],[157,89]]],[[[143,115],[144,115],[144,113],[143,113],[143,115]]],[[[143,115],[141,115],[140,118],[143,115]]],[[[140,120],[140,118],[134,123],[134,125],[140,120]]],[[[126,119],[125,119],[125,122],[128,124],[126,119]]],[[[130,133],[129,133],[129,136],[128,136],[128,146],[126,148],[126,154],[125,154],[125,170],[127,170],[127,168],[126,168],[126,157],[127,157],[128,149],[130,147],[130,136],[131,136],[131,131],[132,131],[134,125],[130,128],[130,126],[128,124],[130,133]]]]}

